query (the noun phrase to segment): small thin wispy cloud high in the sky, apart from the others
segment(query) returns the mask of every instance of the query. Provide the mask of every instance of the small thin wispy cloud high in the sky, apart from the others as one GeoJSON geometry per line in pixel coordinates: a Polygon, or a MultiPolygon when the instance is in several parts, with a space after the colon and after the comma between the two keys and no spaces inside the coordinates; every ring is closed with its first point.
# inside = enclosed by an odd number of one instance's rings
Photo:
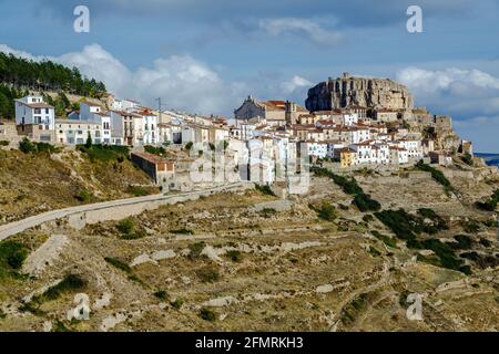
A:
{"type": "Polygon", "coordinates": [[[312,42],[322,45],[335,45],[343,38],[340,33],[325,30],[320,24],[308,19],[266,19],[261,20],[258,27],[274,37],[285,33],[301,33],[312,42]]]}

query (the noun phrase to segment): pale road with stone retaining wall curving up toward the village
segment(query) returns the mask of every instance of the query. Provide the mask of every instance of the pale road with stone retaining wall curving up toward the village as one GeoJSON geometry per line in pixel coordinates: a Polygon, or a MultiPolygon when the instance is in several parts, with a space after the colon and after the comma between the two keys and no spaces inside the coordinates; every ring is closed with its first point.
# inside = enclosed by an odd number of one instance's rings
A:
{"type": "Polygon", "coordinates": [[[89,212],[89,211],[95,211],[95,210],[104,210],[110,209],[114,207],[123,207],[123,206],[130,206],[135,204],[143,204],[143,202],[156,202],[156,201],[167,201],[170,199],[175,198],[190,198],[190,197],[201,197],[201,196],[208,196],[216,192],[222,191],[230,191],[230,190],[236,190],[243,187],[248,187],[253,184],[251,183],[233,183],[227,184],[214,188],[208,189],[202,189],[202,190],[194,190],[189,192],[181,192],[175,195],[152,195],[152,196],[145,196],[145,197],[135,197],[135,198],[128,198],[128,199],[119,199],[119,200],[111,200],[111,201],[103,201],[98,204],[90,204],[84,206],[78,206],[78,207],[70,207],[64,209],[58,209],[58,210],[51,210],[47,211],[37,216],[32,216],[19,221],[14,221],[11,223],[2,225],[0,226],[0,241],[7,239],[10,236],[17,235],[19,232],[22,232],[24,230],[28,230],[32,227],[39,226],[43,222],[53,221],[58,219],[62,219],[72,215],[78,215],[82,212],[89,212]]]}

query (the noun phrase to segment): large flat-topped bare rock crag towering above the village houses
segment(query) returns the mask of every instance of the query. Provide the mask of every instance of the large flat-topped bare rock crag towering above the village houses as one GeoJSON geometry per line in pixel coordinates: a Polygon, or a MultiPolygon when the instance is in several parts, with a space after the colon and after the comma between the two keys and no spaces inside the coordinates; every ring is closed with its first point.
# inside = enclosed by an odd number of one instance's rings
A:
{"type": "Polygon", "coordinates": [[[409,90],[388,79],[329,79],[308,91],[306,107],[310,112],[330,111],[349,106],[386,110],[410,110],[414,98],[409,90]]]}

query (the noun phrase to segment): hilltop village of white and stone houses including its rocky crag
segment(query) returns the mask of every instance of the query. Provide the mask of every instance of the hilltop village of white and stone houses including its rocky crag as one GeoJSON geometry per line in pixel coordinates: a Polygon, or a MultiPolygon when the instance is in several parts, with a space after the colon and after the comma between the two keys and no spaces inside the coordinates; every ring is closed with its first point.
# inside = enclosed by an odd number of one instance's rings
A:
{"type": "Polygon", "coordinates": [[[145,107],[112,94],[82,98],[79,110],[55,116],[40,94],[16,100],[16,126],[0,125],[0,140],[23,138],[60,146],[128,146],[132,160],[170,190],[196,184],[288,181],[308,164],[337,170],[426,163],[449,165],[472,156],[449,116],[415,107],[407,87],[390,80],[344,73],[309,90],[306,107],[284,100],[248,96],[231,119],[145,107]],[[222,177],[203,166],[211,163],[222,177]],[[201,162],[200,162],[201,159],[201,162]],[[193,171],[198,176],[193,178],[193,171]]]}

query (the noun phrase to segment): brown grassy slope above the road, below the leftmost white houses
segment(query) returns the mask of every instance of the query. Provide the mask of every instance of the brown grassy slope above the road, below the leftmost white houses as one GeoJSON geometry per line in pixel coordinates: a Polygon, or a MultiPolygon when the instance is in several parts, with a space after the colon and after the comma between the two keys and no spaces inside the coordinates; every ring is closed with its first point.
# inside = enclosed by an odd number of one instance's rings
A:
{"type": "Polygon", "coordinates": [[[128,159],[91,160],[85,154],[23,154],[0,149],[0,225],[43,211],[157,192],[128,159]],[[144,189],[144,190],[141,190],[144,189]]]}

